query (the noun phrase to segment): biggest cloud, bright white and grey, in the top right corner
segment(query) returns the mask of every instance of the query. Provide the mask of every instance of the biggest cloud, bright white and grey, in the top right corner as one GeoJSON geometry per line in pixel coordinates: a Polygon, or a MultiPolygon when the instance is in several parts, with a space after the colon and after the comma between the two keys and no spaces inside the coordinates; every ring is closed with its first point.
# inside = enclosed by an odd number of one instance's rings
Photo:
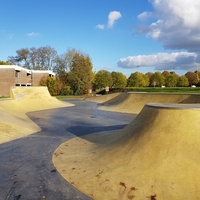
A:
{"type": "MultiPolygon", "coordinates": [[[[153,39],[168,49],[200,49],[200,1],[151,0],[157,21],[143,28],[153,39]]],[[[138,19],[151,17],[143,12],[138,19]]]]}

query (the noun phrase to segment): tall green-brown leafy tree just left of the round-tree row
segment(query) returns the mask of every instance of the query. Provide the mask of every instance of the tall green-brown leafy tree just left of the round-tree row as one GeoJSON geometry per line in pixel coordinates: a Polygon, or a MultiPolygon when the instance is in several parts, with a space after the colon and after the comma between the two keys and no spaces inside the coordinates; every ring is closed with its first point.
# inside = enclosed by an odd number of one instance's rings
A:
{"type": "Polygon", "coordinates": [[[68,80],[74,93],[88,93],[93,81],[93,66],[90,57],[78,52],[75,53],[69,68],[68,80]]]}

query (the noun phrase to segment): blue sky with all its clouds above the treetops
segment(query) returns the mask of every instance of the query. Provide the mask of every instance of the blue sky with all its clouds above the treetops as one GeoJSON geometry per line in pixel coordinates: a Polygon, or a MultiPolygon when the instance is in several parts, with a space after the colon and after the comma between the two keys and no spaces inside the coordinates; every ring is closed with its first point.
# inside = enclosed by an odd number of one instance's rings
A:
{"type": "Polygon", "coordinates": [[[200,70],[196,0],[0,0],[0,60],[21,48],[87,53],[93,70],[200,70]]]}

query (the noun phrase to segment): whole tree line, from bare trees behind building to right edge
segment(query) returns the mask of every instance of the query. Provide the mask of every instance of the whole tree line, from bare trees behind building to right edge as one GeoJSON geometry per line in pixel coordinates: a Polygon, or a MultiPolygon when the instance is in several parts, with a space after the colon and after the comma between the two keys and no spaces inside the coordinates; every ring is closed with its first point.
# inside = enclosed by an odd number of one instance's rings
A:
{"type": "Polygon", "coordinates": [[[174,71],[148,72],[146,74],[133,72],[127,78],[121,72],[100,70],[93,72],[90,57],[69,49],[62,55],[50,47],[22,48],[16,51],[16,56],[9,56],[7,61],[0,61],[0,65],[19,65],[32,70],[52,70],[55,78],[43,78],[40,84],[47,86],[52,95],[80,95],[91,89],[124,87],[187,87],[200,86],[200,73],[187,72],[179,76],[174,71]]]}

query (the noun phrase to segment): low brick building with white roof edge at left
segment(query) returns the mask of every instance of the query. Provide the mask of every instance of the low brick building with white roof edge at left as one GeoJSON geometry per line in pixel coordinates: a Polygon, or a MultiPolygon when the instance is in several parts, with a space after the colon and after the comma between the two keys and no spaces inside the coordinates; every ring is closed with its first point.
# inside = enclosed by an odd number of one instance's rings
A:
{"type": "Polygon", "coordinates": [[[55,77],[49,70],[29,70],[17,65],[0,65],[0,96],[10,96],[12,86],[39,86],[43,77],[55,77]]]}

